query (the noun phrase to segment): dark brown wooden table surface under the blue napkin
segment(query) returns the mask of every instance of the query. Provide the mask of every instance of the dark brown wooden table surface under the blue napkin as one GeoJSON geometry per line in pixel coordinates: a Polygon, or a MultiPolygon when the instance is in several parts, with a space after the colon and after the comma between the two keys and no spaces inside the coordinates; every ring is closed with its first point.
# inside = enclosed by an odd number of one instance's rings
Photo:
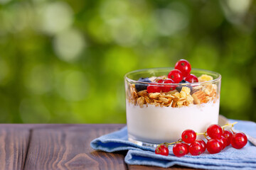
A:
{"type": "MultiPolygon", "coordinates": [[[[96,137],[120,124],[0,124],[0,169],[163,169],[125,164],[127,152],[97,152],[96,137]]],[[[174,166],[171,169],[186,169],[174,166]]]]}

